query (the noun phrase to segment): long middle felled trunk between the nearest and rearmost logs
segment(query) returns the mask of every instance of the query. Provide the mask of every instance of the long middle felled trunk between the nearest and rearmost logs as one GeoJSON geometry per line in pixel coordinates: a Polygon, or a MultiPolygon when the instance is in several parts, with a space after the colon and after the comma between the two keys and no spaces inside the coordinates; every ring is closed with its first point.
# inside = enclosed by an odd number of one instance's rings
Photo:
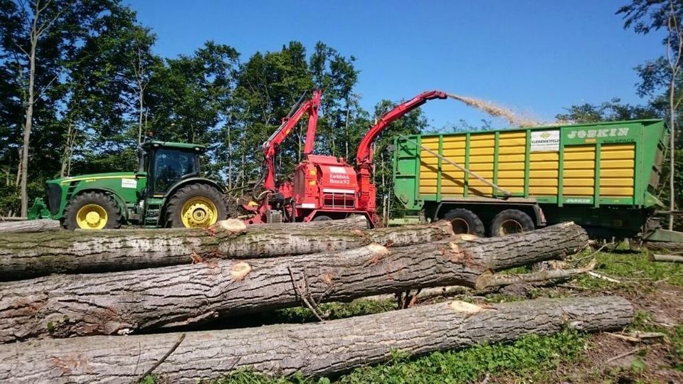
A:
{"type": "Polygon", "coordinates": [[[302,301],[346,302],[423,287],[479,289],[491,284],[491,270],[571,255],[587,242],[581,227],[566,223],[504,238],[391,248],[373,244],[316,255],[4,282],[0,343],[48,335],[129,334],[302,301]]]}

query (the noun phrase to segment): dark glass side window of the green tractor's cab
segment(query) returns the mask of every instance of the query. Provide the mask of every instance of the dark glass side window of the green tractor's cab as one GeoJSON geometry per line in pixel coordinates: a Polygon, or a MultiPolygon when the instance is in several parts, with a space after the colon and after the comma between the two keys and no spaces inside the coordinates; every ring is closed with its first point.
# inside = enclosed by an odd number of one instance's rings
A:
{"type": "Polygon", "coordinates": [[[158,149],[154,160],[154,193],[165,193],[183,176],[197,173],[195,152],[158,149]]]}

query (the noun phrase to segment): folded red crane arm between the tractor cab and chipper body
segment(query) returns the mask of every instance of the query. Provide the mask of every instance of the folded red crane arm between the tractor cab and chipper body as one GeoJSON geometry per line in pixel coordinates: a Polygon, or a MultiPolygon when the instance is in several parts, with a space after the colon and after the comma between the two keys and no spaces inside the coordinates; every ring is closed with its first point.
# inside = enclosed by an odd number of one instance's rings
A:
{"type": "Polygon", "coordinates": [[[299,122],[301,117],[308,112],[308,129],[306,131],[306,143],[304,147],[304,154],[309,154],[313,151],[315,142],[315,129],[318,122],[318,107],[320,105],[321,90],[314,90],[313,96],[302,102],[306,94],[297,101],[292,107],[290,113],[282,118],[282,124],[278,127],[272,135],[263,142],[263,156],[265,158],[265,178],[263,186],[266,189],[275,189],[275,154],[277,147],[285,141],[285,138],[292,132],[292,128],[299,122]]]}

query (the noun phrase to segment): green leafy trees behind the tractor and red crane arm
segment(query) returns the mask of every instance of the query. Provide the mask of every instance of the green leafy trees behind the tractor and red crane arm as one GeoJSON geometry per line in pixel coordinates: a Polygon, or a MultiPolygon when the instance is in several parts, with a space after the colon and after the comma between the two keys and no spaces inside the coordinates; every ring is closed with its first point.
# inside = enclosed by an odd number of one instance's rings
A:
{"type": "MultiPolygon", "coordinates": [[[[18,208],[28,73],[22,50],[36,1],[48,5],[43,17],[59,17],[38,45],[36,90],[45,92],[34,105],[31,197],[43,195],[48,178],[133,171],[146,131],[206,144],[208,176],[243,186],[260,177],[263,142],[314,87],[324,90],[317,153],[353,157],[369,128],[354,92],[355,58],[322,42],[310,55],[292,41],[240,61],[231,46],[207,41],[190,55],[162,58],[152,52],[154,33],[120,0],[0,0],[0,215],[18,208]]],[[[302,119],[279,149],[278,176],[292,173],[304,140],[302,119]]]]}

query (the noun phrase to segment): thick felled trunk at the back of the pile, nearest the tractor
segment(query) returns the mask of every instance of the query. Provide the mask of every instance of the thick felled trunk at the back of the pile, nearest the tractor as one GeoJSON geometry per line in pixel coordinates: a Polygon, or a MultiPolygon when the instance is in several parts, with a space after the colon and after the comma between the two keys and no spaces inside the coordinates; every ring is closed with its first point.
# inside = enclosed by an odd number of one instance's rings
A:
{"type": "Polygon", "coordinates": [[[263,224],[238,220],[211,229],[59,231],[0,233],[0,280],[56,272],[107,272],[189,264],[208,258],[304,255],[380,245],[411,245],[452,236],[447,222],[411,227],[366,228],[366,219],[263,224]]]}

